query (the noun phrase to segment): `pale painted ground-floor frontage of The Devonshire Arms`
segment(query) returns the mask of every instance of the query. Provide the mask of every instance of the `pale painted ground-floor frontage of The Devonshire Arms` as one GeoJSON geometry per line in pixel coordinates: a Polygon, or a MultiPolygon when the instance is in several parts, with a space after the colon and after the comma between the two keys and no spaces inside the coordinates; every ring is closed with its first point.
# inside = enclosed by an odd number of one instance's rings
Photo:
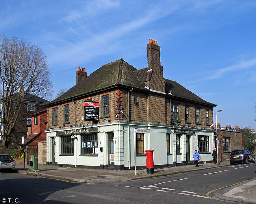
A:
{"type": "Polygon", "coordinates": [[[212,162],[215,146],[211,128],[120,120],[49,129],[46,138],[48,164],[115,170],[134,169],[135,153],[136,167],[146,168],[147,149],[154,150],[155,168],[193,164],[195,149],[202,161],[212,162]],[[149,133],[134,134],[134,129],[149,133]]]}

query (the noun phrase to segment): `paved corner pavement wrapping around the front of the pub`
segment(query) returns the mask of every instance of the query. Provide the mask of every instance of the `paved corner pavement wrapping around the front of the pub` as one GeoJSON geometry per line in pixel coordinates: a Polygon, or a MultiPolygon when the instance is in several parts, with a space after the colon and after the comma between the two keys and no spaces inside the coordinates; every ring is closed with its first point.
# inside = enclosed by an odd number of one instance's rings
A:
{"type": "MultiPolygon", "coordinates": [[[[134,170],[107,170],[107,169],[84,169],[84,168],[70,168],[63,166],[53,166],[53,165],[38,165],[38,172],[31,172],[24,169],[22,164],[16,164],[16,169],[19,173],[25,173],[28,175],[35,175],[45,178],[53,178],[59,180],[66,180],[71,182],[81,182],[81,183],[101,183],[101,182],[122,182],[142,178],[154,178],[167,175],[173,175],[177,173],[184,173],[189,171],[198,171],[204,169],[217,168],[221,166],[229,166],[229,161],[221,162],[219,165],[214,163],[208,164],[198,164],[187,166],[175,166],[155,169],[154,174],[147,174],[146,169],[137,170],[137,175],[135,175],[134,170]]],[[[26,166],[28,169],[29,166],[26,166]]]]}

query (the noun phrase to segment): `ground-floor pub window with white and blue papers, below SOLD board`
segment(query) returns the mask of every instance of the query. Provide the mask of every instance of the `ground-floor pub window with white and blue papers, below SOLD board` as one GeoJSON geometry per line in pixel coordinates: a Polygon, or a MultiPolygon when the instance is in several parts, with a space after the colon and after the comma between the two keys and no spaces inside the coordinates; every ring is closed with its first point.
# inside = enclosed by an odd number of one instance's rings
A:
{"type": "Polygon", "coordinates": [[[82,155],[87,154],[98,154],[97,133],[82,136],[82,155]]]}

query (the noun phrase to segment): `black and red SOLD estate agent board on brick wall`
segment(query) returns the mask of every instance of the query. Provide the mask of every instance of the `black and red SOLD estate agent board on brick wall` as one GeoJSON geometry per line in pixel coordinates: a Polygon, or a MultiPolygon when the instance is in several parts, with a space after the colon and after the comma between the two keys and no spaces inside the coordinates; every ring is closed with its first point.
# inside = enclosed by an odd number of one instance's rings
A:
{"type": "Polygon", "coordinates": [[[84,120],[99,120],[99,102],[84,102],[84,120]]]}

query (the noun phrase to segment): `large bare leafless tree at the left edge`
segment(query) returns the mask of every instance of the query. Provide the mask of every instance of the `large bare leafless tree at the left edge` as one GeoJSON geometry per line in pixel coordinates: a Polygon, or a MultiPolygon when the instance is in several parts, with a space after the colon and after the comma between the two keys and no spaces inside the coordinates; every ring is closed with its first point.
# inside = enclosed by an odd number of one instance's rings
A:
{"type": "Polygon", "coordinates": [[[22,104],[29,94],[49,98],[51,71],[43,51],[16,37],[0,35],[0,100],[2,142],[7,147],[10,134],[22,116],[22,104]]]}

